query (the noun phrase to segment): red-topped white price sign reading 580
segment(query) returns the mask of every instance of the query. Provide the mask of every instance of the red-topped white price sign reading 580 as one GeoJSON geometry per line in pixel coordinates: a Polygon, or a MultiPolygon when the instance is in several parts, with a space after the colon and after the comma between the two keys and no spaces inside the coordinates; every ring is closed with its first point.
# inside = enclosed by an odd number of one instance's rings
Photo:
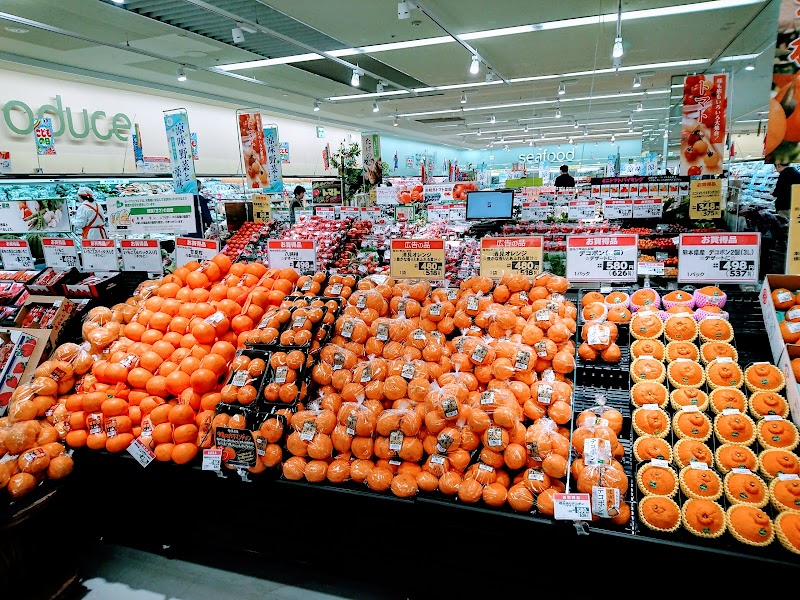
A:
{"type": "Polygon", "coordinates": [[[570,281],[636,281],[638,235],[567,237],[570,281]]]}

